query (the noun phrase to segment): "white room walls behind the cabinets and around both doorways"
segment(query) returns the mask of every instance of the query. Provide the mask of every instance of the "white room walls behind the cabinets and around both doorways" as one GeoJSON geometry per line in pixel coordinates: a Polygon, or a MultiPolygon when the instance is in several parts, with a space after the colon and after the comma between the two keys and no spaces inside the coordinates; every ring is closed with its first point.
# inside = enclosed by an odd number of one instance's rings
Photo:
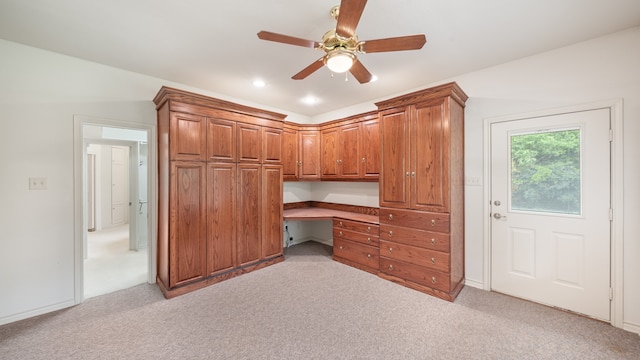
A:
{"type": "MultiPolygon", "coordinates": [[[[0,227],[4,230],[0,273],[12,274],[0,278],[3,323],[68,306],[73,298],[73,114],[154,124],[150,100],[161,85],[240,101],[1,40],[0,53],[0,227]],[[31,176],[47,177],[48,190],[29,191],[31,176]]],[[[633,28],[447,80],[457,81],[470,97],[465,113],[465,171],[481,178],[484,119],[624,99],[624,322],[634,331],[640,331],[638,64],[640,28],[633,28]]],[[[406,92],[412,90],[417,89],[406,92]]],[[[378,100],[312,119],[292,114],[287,120],[315,123],[341,118],[374,110],[378,100]]],[[[329,183],[290,184],[285,185],[285,202],[341,202],[337,200],[346,196],[375,206],[370,204],[375,198],[371,189],[352,197],[340,194],[342,190],[334,193],[327,188],[329,183]]],[[[465,190],[466,276],[481,284],[482,187],[465,190]]]]}

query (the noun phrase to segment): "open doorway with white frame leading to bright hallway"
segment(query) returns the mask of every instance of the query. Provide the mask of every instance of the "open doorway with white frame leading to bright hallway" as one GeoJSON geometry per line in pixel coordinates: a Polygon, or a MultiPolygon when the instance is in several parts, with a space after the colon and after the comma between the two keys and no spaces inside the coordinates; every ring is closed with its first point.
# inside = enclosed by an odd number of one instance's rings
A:
{"type": "Polygon", "coordinates": [[[155,129],[74,117],[75,302],[155,282],[155,129]]]}

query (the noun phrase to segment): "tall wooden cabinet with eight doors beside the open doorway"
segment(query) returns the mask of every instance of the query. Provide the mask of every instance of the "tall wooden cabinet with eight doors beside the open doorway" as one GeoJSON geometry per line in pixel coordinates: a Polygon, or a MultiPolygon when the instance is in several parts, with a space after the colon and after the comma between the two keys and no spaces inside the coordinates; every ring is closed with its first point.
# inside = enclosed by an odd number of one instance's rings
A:
{"type": "Polygon", "coordinates": [[[167,87],[154,102],[165,297],[282,261],[284,115],[167,87]]]}

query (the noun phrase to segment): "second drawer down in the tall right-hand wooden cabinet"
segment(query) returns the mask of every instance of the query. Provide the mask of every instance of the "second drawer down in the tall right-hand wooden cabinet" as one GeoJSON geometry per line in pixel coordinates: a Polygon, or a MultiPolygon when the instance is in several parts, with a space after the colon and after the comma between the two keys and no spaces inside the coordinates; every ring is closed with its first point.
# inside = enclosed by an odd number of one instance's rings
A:
{"type": "Polygon", "coordinates": [[[406,227],[380,225],[380,240],[449,252],[449,234],[417,230],[406,227]]]}

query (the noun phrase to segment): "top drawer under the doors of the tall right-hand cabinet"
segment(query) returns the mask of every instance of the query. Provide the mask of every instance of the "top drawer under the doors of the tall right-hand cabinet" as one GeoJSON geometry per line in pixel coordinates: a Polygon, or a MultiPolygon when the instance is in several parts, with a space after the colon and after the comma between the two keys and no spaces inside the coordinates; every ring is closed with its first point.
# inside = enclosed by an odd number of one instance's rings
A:
{"type": "Polygon", "coordinates": [[[449,233],[449,214],[380,208],[380,225],[382,224],[449,233]]]}

